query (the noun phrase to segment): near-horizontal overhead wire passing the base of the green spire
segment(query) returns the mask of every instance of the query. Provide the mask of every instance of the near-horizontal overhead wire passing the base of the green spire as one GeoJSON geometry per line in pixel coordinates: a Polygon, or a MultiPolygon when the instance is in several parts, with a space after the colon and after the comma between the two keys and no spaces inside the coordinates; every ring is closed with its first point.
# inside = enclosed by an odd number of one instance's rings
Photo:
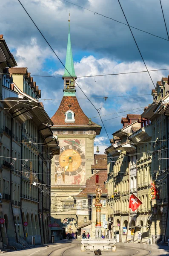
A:
{"type": "MultiPolygon", "coordinates": [[[[114,73],[114,74],[103,74],[103,75],[91,75],[91,76],[77,76],[77,78],[86,78],[86,77],[95,77],[95,76],[118,76],[118,75],[125,75],[125,74],[135,74],[135,73],[146,73],[146,72],[153,72],[153,71],[161,71],[161,70],[169,70],[169,68],[162,68],[162,69],[155,69],[155,70],[144,70],[144,71],[132,71],[132,72],[124,72],[124,73],[114,73]]],[[[6,75],[6,73],[0,73],[0,75],[6,75]]],[[[28,76],[28,75],[25,75],[28,76]]],[[[62,78],[62,76],[43,76],[43,75],[32,75],[37,77],[51,77],[51,78],[62,78]]]]}

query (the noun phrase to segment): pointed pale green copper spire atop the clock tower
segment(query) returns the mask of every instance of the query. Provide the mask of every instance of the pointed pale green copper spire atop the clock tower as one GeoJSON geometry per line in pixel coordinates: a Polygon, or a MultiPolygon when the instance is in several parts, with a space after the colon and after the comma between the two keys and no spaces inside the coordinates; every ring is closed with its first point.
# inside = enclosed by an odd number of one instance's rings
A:
{"type": "MultiPolygon", "coordinates": [[[[71,47],[71,41],[70,41],[70,19],[69,19],[68,46],[67,46],[67,52],[66,52],[65,67],[69,71],[69,73],[71,74],[72,77],[76,77],[76,74],[74,71],[72,47],[71,47]]],[[[65,73],[64,73],[63,77],[71,77],[66,69],[65,69],[65,73]]]]}

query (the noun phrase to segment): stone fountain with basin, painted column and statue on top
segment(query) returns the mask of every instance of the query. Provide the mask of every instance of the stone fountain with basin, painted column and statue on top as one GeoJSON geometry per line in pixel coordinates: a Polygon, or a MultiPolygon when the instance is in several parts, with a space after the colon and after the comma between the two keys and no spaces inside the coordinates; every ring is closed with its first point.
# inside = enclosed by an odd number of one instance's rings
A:
{"type": "Polygon", "coordinates": [[[116,239],[102,239],[101,232],[101,207],[100,198],[102,190],[97,185],[96,192],[96,225],[95,225],[95,239],[82,239],[81,240],[81,251],[94,251],[100,249],[101,251],[115,251],[116,250],[116,239]]]}

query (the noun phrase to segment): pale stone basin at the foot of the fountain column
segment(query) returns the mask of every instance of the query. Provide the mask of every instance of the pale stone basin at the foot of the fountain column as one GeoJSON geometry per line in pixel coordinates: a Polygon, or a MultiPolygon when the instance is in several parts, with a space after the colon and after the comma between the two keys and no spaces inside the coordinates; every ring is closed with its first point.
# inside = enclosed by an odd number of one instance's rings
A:
{"type": "Polygon", "coordinates": [[[112,251],[116,244],[116,239],[81,239],[81,251],[112,251]]]}

